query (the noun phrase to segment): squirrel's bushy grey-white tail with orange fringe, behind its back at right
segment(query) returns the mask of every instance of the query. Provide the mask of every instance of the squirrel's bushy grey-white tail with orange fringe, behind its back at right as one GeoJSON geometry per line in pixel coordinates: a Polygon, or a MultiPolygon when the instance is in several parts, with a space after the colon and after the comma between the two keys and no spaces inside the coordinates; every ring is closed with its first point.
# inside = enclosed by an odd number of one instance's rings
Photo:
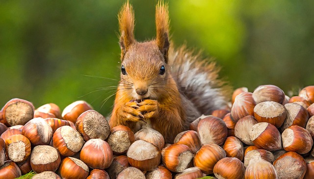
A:
{"type": "Polygon", "coordinates": [[[185,45],[169,49],[169,66],[180,92],[205,115],[228,106],[231,87],[219,79],[220,67],[185,45]]]}

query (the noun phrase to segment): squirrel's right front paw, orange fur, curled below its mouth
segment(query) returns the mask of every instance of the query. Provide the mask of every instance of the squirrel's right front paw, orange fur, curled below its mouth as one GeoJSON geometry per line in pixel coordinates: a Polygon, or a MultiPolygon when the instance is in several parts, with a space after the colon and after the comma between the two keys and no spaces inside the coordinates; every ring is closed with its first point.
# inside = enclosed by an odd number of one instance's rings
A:
{"type": "Polygon", "coordinates": [[[156,116],[159,110],[159,103],[157,100],[146,99],[138,103],[137,106],[139,106],[137,111],[141,112],[144,118],[156,116]]]}

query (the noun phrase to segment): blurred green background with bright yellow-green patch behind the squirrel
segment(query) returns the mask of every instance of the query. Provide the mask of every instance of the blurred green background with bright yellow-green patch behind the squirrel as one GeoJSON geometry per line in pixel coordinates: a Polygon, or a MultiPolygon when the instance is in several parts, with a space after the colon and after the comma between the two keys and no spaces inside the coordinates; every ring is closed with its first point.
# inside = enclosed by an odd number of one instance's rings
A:
{"type": "MultiPolygon", "coordinates": [[[[155,0],[130,0],[135,37],[155,37],[155,0]]],[[[123,0],[0,0],[0,106],[23,98],[61,110],[85,100],[111,111],[120,75],[123,0]]],[[[171,0],[171,35],[214,57],[235,88],[286,93],[314,85],[313,0],[171,0]]]]}

